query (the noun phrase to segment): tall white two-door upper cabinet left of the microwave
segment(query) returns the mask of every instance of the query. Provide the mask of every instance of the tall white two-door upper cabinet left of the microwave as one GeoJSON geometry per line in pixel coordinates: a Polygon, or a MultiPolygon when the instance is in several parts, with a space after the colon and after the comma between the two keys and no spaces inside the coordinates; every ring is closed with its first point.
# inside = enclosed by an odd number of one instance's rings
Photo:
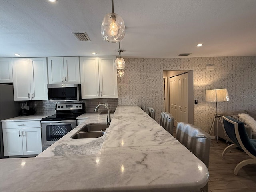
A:
{"type": "Polygon", "coordinates": [[[12,58],[14,100],[48,100],[46,58],[12,58]]]}

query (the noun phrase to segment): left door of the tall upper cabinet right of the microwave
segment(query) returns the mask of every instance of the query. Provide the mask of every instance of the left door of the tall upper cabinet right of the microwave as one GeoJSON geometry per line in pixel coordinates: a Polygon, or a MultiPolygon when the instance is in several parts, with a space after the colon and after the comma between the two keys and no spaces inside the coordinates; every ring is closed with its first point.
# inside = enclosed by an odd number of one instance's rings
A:
{"type": "Polygon", "coordinates": [[[82,99],[100,98],[98,57],[80,57],[82,99]]]}

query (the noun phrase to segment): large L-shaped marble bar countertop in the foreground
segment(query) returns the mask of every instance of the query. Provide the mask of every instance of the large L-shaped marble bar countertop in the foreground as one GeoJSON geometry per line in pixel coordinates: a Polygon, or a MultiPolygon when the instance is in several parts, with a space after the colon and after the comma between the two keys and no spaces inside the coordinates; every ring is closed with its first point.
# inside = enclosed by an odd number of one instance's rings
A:
{"type": "MultiPolygon", "coordinates": [[[[82,126],[63,137],[66,144],[82,126]]],[[[0,191],[184,192],[199,190],[209,176],[196,156],[138,106],[117,107],[96,153],[50,154],[0,160],[0,191]]]]}

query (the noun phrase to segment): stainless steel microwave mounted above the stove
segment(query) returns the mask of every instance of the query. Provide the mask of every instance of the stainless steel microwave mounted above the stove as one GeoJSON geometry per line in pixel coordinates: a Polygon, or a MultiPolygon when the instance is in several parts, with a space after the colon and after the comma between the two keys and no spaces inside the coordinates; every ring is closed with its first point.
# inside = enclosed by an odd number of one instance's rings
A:
{"type": "Polygon", "coordinates": [[[81,100],[81,84],[50,84],[47,89],[49,101],[81,100]]]}

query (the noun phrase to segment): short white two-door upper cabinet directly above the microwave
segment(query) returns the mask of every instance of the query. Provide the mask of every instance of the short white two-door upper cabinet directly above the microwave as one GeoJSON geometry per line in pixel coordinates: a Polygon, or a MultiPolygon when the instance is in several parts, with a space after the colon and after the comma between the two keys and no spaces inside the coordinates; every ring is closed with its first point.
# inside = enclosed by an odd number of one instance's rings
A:
{"type": "Polygon", "coordinates": [[[78,57],[48,57],[49,84],[80,83],[78,57]]]}

